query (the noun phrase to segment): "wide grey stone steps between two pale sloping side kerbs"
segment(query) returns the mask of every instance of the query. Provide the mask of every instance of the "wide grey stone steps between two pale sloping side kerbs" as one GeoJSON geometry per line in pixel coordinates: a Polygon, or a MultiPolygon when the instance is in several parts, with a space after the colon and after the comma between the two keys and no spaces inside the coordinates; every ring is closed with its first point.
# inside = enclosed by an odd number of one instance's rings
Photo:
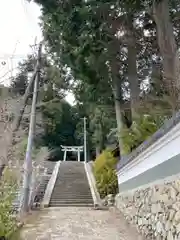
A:
{"type": "Polygon", "coordinates": [[[61,163],[49,206],[93,206],[84,163],[61,163]]]}

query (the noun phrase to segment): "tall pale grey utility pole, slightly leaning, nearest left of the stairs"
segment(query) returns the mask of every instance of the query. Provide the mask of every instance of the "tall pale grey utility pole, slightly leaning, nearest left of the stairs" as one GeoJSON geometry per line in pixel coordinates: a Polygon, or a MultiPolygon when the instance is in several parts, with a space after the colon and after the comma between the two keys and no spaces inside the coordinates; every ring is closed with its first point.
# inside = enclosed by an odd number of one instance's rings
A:
{"type": "Polygon", "coordinates": [[[27,143],[26,157],[25,157],[25,163],[24,163],[23,193],[21,198],[22,212],[27,212],[29,210],[30,189],[31,189],[32,172],[33,172],[31,154],[32,154],[35,125],[36,125],[36,101],[37,101],[37,92],[38,92],[39,76],[40,76],[41,52],[42,52],[42,43],[40,43],[39,50],[38,50],[38,59],[37,59],[38,67],[37,67],[36,78],[34,81],[34,91],[33,91],[33,100],[32,100],[31,115],[30,115],[28,143],[27,143]]]}

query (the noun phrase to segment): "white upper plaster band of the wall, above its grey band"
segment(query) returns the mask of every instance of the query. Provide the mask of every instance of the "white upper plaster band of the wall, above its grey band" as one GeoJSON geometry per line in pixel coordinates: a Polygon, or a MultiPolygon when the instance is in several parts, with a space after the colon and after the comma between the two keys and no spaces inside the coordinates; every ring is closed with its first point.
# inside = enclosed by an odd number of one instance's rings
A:
{"type": "Polygon", "coordinates": [[[180,154],[180,123],[117,172],[118,183],[138,176],[180,154]]]}

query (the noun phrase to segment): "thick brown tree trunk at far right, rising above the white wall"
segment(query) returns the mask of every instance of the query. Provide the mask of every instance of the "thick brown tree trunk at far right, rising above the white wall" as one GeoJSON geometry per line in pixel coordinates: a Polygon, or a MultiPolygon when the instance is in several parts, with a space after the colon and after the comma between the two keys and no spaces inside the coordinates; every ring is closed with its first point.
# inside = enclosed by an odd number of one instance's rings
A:
{"type": "Polygon", "coordinates": [[[177,109],[178,78],[176,66],[179,67],[177,45],[169,14],[168,0],[153,2],[153,17],[157,27],[157,39],[162,56],[164,87],[170,95],[172,108],[177,109]]]}

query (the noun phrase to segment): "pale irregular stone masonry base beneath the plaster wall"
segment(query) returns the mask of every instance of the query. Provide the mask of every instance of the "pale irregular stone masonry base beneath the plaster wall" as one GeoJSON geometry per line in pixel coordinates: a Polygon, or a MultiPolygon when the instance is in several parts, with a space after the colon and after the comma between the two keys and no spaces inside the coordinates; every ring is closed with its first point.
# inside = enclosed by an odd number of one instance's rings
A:
{"type": "Polygon", "coordinates": [[[180,239],[180,176],[119,193],[115,206],[146,239],[180,239]]]}

